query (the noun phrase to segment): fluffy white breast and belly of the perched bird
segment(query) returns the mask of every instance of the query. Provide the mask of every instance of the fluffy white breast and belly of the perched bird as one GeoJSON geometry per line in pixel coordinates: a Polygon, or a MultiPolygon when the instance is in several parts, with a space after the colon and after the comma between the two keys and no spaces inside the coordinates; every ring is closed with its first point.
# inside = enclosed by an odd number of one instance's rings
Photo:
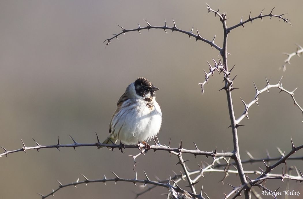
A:
{"type": "Polygon", "coordinates": [[[143,99],[126,100],[112,120],[113,136],[124,144],[136,144],[155,137],[161,127],[162,113],[158,103],[153,101],[154,106],[150,109],[143,99]]]}

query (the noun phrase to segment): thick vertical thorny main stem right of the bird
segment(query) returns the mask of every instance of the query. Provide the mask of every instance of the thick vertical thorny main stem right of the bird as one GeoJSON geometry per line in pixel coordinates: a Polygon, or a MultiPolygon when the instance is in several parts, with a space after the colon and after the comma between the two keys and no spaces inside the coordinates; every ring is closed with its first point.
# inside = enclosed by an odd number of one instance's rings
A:
{"type": "MultiPolygon", "coordinates": [[[[228,62],[227,62],[227,38],[228,38],[228,33],[229,30],[226,25],[226,16],[224,13],[220,14],[220,19],[223,24],[223,30],[224,30],[224,38],[223,38],[223,47],[221,51],[221,56],[223,59],[223,63],[225,66],[225,70],[228,71],[228,62]],[[221,15],[221,16],[220,16],[221,15]]],[[[229,79],[229,76],[226,78],[229,79]]],[[[227,96],[227,103],[228,103],[228,112],[229,112],[229,118],[231,121],[231,129],[232,129],[232,138],[233,138],[233,143],[234,143],[234,157],[233,160],[236,163],[237,170],[239,172],[239,177],[241,180],[241,184],[247,184],[247,180],[244,174],[243,166],[241,163],[241,158],[240,158],[240,151],[239,151],[239,142],[238,142],[238,132],[237,132],[237,123],[236,123],[236,118],[235,118],[235,113],[234,113],[234,108],[232,104],[232,97],[231,97],[231,91],[232,91],[232,86],[225,81],[225,91],[226,91],[226,96],[227,96]]],[[[244,189],[244,194],[245,194],[245,199],[251,199],[251,194],[250,194],[250,189],[244,189]]]]}

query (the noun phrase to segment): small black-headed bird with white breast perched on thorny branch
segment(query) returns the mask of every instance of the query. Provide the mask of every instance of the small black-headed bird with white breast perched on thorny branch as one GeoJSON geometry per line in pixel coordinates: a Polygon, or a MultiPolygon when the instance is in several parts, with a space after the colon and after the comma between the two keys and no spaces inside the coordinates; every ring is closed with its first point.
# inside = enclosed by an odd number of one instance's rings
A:
{"type": "Polygon", "coordinates": [[[122,149],[124,144],[142,142],[145,150],[150,149],[146,142],[159,133],[162,122],[162,112],[155,100],[157,90],[148,79],[142,77],[128,85],[109,123],[110,135],[103,143],[112,144],[120,140],[119,148],[122,149]]]}

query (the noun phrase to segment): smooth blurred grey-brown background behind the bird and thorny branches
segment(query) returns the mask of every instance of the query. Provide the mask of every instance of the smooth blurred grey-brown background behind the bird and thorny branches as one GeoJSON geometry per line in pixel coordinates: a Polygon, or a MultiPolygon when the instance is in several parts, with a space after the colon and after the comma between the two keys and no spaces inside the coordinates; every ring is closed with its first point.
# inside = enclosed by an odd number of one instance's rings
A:
{"type": "MultiPolygon", "coordinates": [[[[265,77],[277,83],[283,77],[283,86],[293,90],[303,106],[303,59],[291,59],[286,72],[283,52],[294,52],[295,43],[303,46],[301,19],[302,1],[1,1],[0,2],[0,145],[7,150],[18,149],[24,140],[26,146],[34,146],[34,138],[42,145],[72,143],[71,135],[79,143],[96,142],[108,136],[108,123],[115,111],[116,102],[128,84],[137,77],[146,77],[160,88],[157,101],[163,113],[159,140],[171,147],[193,149],[193,141],[200,150],[232,150],[231,130],[226,94],[218,92],[223,86],[222,75],[215,74],[205,93],[201,94],[199,82],[204,81],[203,70],[208,70],[206,61],[218,59],[218,52],[208,44],[187,35],[151,29],[121,35],[105,48],[105,39],[121,31],[116,24],[126,29],[137,28],[136,22],[145,26],[162,26],[164,19],[172,26],[172,18],[178,28],[190,31],[198,28],[206,39],[216,35],[215,43],[222,46],[222,26],[213,13],[207,15],[206,3],[213,9],[227,12],[227,24],[232,26],[252,16],[289,13],[292,26],[269,18],[255,20],[253,24],[233,30],[228,37],[229,66],[232,77],[238,74],[234,86],[240,88],[233,94],[235,114],[243,112],[243,104],[255,95],[253,82],[258,88],[266,85],[265,77]]],[[[276,147],[288,152],[290,139],[295,145],[303,144],[302,113],[286,93],[271,89],[270,94],[259,97],[259,106],[249,110],[250,120],[244,119],[239,128],[239,143],[242,160],[248,159],[245,151],[255,158],[279,156],[276,147]]],[[[152,143],[152,142],[151,142],[152,143]]],[[[13,153],[0,158],[1,198],[40,198],[36,193],[48,194],[63,184],[75,182],[80,173],[89,179],[112,177],[110,170],[120,177],[133,178],[133,160],[138,150],[96,150],[81,147],[76,151],[64,148],[31,150],[28,153],[13,153]]],[[[302,156],[298,151],[295,156],[302,156]]],[[[198,169],[204,157],[184,155],[190,159],[188,166],[198,169]]],[[[151,179],[161,179],[178,172],[180,165],[174,156],[150,151],[138,158],[138,178],[143,178],[144,169],[151,179]]],[[[273,164],[273,162],[271,163],[273,164]]],[[[289,161],[303,169],[301,161],[289,161]]],[[[245,170],[258,170],[264,165],[245,164],[245,170]]],[[[284,165],[282,165],[285,167],[284,165]]],[[[281,173],[281,168],[274,170],[281,173]]],[[[206,174],[197,187],[203,184],[211,198],[223,198],[231,188],[219,182],[223,174],[206,174]]],[[[252,176],[255,177],[255,176],[252,176]]],[[[225,183],[239,185],[231,175],[225,183]]],[[[185,183],[184,183],[185,184],[185,183]]],[[[181,184],[182,185],[182,184],[181,184]]],[[[280,180],[267,181],[271,189],[286,189],[280,180]]],[[[198,190],[200,188],[197,188],[198,190]]],[[[298,183],[291,182],[289,190],[303,191],[298,183]]],[[[142,189],[132,183],[118,182],[79,185],[58,191],[56,198],[135,198],[134,192],[142,189]]],[[[259,191],[257,189],[257,191],[259,191]]],[[[261,191],[259,191],[261,193],[261,191]]],[[[145,194],[146,198],[165,198],[160,195],[166,189],[157,188],[145,194]]],[[[299,196],[300,197],[300,196],[299,196]]],[[[288,198],[299,198],[289,196],[288,198]]],[[[269,196],[264,198],[270,198],[269,196]]],[[[281,197],[281,198],[284,198],[281,197]]]]}

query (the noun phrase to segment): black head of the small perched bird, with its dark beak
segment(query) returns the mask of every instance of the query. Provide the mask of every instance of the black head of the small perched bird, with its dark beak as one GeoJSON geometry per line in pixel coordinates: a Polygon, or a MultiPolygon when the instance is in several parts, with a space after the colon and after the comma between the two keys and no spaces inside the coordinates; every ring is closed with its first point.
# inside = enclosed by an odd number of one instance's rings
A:
{"type": "Polygon", "coordinates": [[[145,97],[150,93],[150,97],[155,96],[155,91],[159,90],[157,87],[153,86],[148,79],[144,77],[139,77],[135,81],[135,90],[137,95],[145,97]]]}

